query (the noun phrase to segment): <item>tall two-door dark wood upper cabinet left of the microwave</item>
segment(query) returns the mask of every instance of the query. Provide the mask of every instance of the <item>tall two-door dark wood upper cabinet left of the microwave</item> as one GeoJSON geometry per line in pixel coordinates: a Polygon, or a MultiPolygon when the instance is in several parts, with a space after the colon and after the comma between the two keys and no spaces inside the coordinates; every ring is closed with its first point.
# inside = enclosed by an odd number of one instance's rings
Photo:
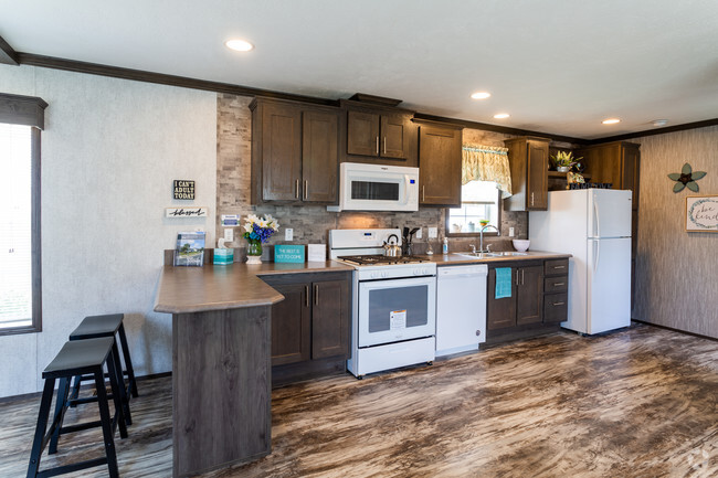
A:
{"type": "Polygon", "coordinates": [[[266,98],[250,108],[252,203],[336,203],[338,108],[266,98]]]}

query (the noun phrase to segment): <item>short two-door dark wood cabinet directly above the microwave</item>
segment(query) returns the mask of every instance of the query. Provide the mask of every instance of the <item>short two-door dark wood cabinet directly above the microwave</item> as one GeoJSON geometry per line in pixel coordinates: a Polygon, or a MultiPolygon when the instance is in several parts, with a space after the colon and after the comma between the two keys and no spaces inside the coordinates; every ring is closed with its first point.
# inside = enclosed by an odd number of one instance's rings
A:
{"type": "Polygon", "coordinates": [[[341,161],[415,167],[416,126],[413,111],[383,103],[342,99],[341,161]]]}

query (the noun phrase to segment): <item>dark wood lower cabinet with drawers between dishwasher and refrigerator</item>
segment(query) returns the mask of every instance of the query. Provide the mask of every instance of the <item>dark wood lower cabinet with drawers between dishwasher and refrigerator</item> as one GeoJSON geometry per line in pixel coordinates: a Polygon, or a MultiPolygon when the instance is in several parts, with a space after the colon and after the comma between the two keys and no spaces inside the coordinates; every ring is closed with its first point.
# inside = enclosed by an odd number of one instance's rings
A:
{"type": "MultiPolygon", "coordinates": [[[[568,264],[568,259],[560,261],[568,264]]],[[[559,261],[524,261],[489,267],[486,301],[487,343],[522,339],[559,329],[559,322],[566,320],[568,280],[561,282],[560,276],[546,277],[549,267],[547,265],[550,263],[559,261]],[[510,297],[496,298],[497,267],[511,269],[510,297]],[[552,287],[558,289],[553,290],[552,287]],[[562,293],[563,302],[561,304],[559,295],[547,294],[549,290],[562,293]]],[[[568,268],[566,270],[568,272],[568,268]]]]}

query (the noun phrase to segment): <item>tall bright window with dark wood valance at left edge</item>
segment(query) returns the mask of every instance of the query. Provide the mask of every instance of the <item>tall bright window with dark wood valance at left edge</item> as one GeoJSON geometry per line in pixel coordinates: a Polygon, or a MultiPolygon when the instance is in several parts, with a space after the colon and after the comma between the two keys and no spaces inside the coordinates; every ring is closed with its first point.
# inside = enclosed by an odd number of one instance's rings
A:
{"type": "Polygon", "coordinates": [[[41,330],[40,98],[0,94],[0,334],[41,330]]]}

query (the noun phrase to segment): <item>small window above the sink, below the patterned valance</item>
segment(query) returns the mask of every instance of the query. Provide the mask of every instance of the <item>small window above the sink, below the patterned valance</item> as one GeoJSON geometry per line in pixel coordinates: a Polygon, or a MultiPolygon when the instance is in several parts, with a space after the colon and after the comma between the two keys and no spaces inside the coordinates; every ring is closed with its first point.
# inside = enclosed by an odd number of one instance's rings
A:
{"type": "MultiPolygon", "coordinates": [[[[482,221],[500,227],[500,191],[494,181],[471,181],[462,185],[462,206],[450,209],[446,231],[450,234],[477,234],[482,221]]],[[[489,229],[493,234],[496,231],[489,229]]],[[[486,231],[488,234],[489,231],[486,231]]]]}

